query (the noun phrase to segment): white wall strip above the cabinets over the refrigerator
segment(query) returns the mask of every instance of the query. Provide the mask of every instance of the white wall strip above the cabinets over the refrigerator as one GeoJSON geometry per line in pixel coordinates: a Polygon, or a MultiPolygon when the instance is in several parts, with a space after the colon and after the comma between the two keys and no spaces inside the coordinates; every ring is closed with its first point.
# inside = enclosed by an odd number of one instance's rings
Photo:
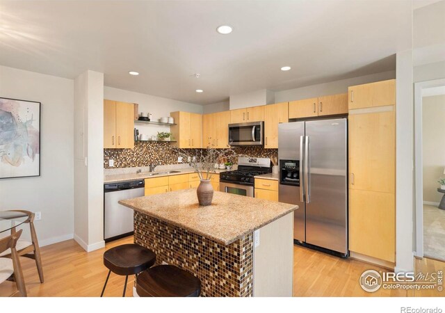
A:
{"type": "Polygon", "coordinates": [[[287,102],[293,100],[307,99],[324,95],[336,95],[337,93],[348,93],[348,86],[361,85],[362,83],[373,83],[374,81],[385,81],[395,79],[396,71],[382,72],[351,79],[341,79],[329,83],[305,86],[289,90],[275,92],[275,102],[287,102]]]}

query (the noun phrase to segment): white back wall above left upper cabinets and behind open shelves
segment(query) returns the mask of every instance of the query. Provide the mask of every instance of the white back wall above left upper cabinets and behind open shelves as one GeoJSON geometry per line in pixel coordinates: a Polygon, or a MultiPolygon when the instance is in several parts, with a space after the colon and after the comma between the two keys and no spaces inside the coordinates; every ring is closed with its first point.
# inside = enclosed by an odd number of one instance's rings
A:
{"type": "MultiPolygon", "coordinates": [[[[144,93],[135,93],[129,90],[106,86],[104,87],[104,98],[122,102],[137,103],[139,105],[139,112],[152,113],[152,118],[154,120],[165,116],[170,116],[170,112],[175,111],[186,111],[192,113],[202,113],[203,111],[203,106],[200,104],[181,102],[173,99],[146,95],[144,93]]],[[[147,134],[150,136],[156,135],[158,131],[169,131],[170,129],[170,127],[147,124],[135,124],[134,126],[136,129],[139,129],[140,134],[147,134]]]]}

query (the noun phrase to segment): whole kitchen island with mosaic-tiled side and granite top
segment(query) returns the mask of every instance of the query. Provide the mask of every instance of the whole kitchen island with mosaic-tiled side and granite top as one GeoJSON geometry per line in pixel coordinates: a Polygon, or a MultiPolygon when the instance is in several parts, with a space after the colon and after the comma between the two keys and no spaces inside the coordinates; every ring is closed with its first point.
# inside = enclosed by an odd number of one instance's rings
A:
{"type": "Polygon", "coordinates": [[[135,211],[135,243],[200,278],[202,296],[292,296],[296,205],[215,191],[202,207],[196,189],[119,203],[135,211]]]}

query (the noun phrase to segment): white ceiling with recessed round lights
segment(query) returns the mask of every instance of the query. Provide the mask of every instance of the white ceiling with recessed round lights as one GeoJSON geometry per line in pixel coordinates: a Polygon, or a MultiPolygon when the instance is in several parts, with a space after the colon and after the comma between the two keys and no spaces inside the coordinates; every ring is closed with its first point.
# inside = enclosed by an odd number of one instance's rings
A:
{"type": "Polygon", "coordinates": [[[409,0],[0,1],[0,65],[209,104],[394,70],[411,15],[409,0]]]}

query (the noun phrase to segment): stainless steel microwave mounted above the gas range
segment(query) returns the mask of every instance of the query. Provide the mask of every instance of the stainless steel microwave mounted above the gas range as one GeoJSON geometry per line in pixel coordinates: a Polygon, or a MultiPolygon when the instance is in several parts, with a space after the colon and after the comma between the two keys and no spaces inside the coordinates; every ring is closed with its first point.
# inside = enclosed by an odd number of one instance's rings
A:
{"type": "Polygon", "coordinates": [[[264,122],[229,124],[229,145],[263,145],[264,122]]]}

